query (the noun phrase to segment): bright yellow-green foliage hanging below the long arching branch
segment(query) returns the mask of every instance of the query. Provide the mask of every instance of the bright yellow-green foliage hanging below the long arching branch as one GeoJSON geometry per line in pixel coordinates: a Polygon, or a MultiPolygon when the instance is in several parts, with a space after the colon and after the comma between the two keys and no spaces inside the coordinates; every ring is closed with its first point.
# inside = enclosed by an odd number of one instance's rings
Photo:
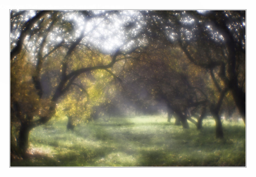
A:
{"type": "Polygon", "coordinates": [[[67,92],[64,99],[58,104],[57,115],[61,117],[66,115],[72,117],[74,125],[82,121],[87,122],[91,119],[93,108],[111,102],[111,96],[115,94],[115,87],[111,84],[113,77],[105,70],[93,71],[90,73],[90,79],[84,80],[84,88],[74,87],[67,92]]]}

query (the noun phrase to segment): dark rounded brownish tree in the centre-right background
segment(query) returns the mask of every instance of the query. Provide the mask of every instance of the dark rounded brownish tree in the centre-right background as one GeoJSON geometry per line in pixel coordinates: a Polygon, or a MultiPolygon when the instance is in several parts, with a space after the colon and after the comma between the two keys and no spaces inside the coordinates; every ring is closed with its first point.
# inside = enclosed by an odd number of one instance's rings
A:
{"type": "Polygon", "coordinates": [[[191,66],[178,46],[154,43],[133,57],[120,76],[125,92],[133,100],[165,102],[176,124],[181,121],[188,128],[187,110],[207,101],[201,88],[203,71],[191,66]]]}

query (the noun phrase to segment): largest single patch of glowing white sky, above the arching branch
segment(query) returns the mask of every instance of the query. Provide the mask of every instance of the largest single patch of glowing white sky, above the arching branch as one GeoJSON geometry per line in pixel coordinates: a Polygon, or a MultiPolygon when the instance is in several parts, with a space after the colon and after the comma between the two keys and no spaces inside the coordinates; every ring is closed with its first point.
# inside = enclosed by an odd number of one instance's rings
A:
{"type": "MultiPolygon", "coordinates": [[[[98,11],[95,12],[99,13],[98,11]]],[[[135,22],[135,28],[132,33],[138,33],[142,24],[140,20],[139,11],[135,10],[123,10],[120,11],[120,15],[112,13],[111,11],[105,11],[106,16],[95,17],[90,20],[84,19],[82,16],[77,16],[72,11],[69,13],[69,19],[74,20],[77,26],[77,35],[84,32],[84,43],[90,43],[97,48],[100,48],[105,53],[112,53],[119,48],[129,48],[130,43],[125,43],[127,34],[123,27],[129,23],[135,22]],[[121,16],[121,18],[120,18],[121,16]]]]}

